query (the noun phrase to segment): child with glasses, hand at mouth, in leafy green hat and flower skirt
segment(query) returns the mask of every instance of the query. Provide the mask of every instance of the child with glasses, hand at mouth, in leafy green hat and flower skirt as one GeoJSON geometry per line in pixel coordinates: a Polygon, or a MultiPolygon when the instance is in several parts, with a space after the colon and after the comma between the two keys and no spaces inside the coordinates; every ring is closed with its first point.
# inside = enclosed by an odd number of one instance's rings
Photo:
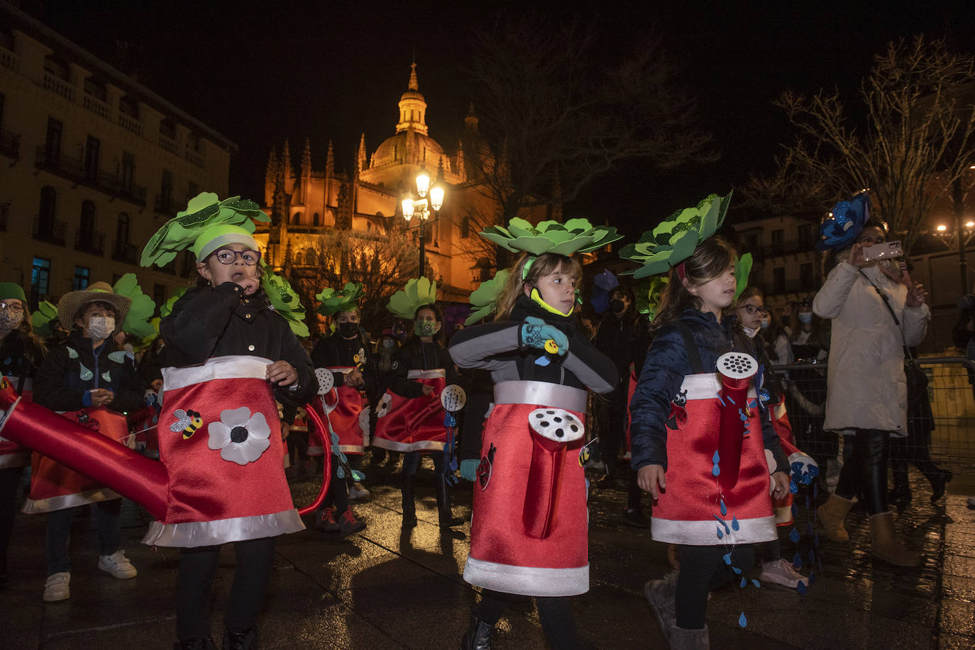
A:
{"type": "Polygon", "coordinates": [[[252,201],[203,193],[167,222],[142,252],[163,266],[189,248],[198,286],[176,301],[160,331],[163,369],[160,456],[175,489],[199,508],[153,522],[143,542],[181,547],[176,648],[215,648],[210,599],[220,545],[234,542],[237,568],[226,610],[224,650],[251,648],[274,562],[277,535],[302,530],[284,475],[275,401],[307,403],[318,390],[297,296],[259,265],[252,201]],[[202,364],[202,365],[200,365],[202,364]],[[199,431],[197,431],[199,430],[199,431]]]}

